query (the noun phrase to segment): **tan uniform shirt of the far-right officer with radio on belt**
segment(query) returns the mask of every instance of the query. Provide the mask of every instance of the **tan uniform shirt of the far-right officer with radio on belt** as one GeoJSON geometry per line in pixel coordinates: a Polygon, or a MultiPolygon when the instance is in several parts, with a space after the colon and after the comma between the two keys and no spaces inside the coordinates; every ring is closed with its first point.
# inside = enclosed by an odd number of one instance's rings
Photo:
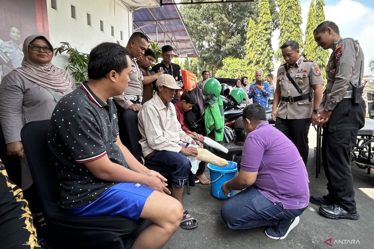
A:
{"type": "Polygon", "coordinates": [[[343,100],[347,90],[352,90],[353,84],[358,84],[359,78],[364,76],[364,53],[358,41],[352,38],[338,40],[331,53],[326,67],[326,89],[322,96],[319,109],[334,110],[335,106],[343,100]],[[362,66],[361,66],[362,61],[362,66]],[[360,74],[361,67],[361,75],[360,74]]]}

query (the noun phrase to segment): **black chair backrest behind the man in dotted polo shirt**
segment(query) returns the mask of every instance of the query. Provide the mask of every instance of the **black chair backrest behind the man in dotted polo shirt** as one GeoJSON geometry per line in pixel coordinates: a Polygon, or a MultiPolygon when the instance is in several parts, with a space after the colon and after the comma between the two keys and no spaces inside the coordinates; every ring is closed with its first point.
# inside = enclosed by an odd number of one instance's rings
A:
{"type": "Polygon", "coordinates": [[[49,123],[49,119],[29,122],[21,130],[27,164],[40,197],[43,216],[46,221],[50,220],[51,217],[60,216],[61,213],[58,206],[59,181],[47,146],[49,123]]]}

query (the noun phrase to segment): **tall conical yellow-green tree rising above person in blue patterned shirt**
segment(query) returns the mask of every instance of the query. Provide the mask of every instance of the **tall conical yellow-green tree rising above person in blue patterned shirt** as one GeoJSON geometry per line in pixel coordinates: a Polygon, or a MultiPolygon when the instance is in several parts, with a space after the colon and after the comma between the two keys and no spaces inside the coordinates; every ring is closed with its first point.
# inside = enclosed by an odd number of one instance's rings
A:
{"type": "MultiPolygon", "coordinates": [[[[269,0],[260,0],[258,8],[260,10],[260,16],[255,28],[257,36],[255,38],[255,46],[252,48],[255,51],[252,51],[251,65],[253,65],[255,69],[262,69],[264,72],[272,72],[274,70],[274,51],[272,49],[272,34],[269,32],[272,27],[269,0]]],[[[254,72],[252,74],[254,74],[254,72]]]]}

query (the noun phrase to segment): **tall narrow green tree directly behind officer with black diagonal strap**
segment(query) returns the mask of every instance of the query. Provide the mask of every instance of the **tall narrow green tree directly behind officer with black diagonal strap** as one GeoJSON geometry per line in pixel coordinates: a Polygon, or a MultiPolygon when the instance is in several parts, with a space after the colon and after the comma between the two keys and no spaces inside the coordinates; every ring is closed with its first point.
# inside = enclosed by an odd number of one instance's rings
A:
{"type": "MultiPolygon", "coordinates": [[[[297,41],[300,50],[303,49],[303,37],[300,25],[303,23],[301,17],[300,0],[278,0],[279,7],[279,47],[285,41],[297,41]]],[[[282,50],[278,49],[275,59],[283,61],[282,50]]]]}

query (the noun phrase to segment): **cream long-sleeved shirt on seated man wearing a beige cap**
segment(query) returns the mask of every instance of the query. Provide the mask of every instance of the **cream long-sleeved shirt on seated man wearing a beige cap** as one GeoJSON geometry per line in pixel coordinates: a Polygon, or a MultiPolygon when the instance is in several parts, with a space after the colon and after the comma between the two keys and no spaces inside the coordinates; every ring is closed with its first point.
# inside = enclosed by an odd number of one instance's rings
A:
{"type": "Polygon", "coordinates": [[[155,150],[180,152],[181,143],[191,143],[193,139],[181,128],[177,112],[171,102],[166,106],[157,93],[144,103],[138,113],[138,128],[142,139],[139,141],[144,157],[155,150]]]}

